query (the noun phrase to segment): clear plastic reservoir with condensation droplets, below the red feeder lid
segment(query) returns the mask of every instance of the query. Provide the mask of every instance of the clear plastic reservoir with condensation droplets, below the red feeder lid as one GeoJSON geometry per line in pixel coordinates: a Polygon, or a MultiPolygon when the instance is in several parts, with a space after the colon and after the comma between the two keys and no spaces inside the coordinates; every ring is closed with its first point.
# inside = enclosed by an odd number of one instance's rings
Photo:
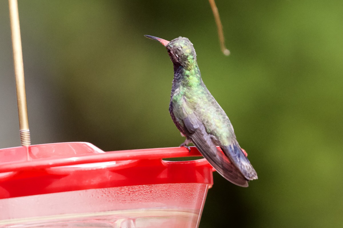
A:
{"type": "Polygon", "coordinates": [[[136,185],[0,199],[0,227],[196,228],[210,186],[136,185]]]}

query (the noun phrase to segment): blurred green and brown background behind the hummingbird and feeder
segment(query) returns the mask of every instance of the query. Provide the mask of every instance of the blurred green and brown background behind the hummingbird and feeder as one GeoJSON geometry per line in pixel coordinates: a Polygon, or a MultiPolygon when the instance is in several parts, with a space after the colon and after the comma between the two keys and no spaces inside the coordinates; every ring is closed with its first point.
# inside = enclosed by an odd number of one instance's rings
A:
{"type": "MultiPolygon", "coordinates": [[[[183,142],[168,112],[173,66],[146,39],[188,37],[203,81],[259,179],[217,173],[206,227],[342,227],[342,1],[19,1],[32,143],[105,150],[183,142]]],[[[8,1],[0,1],[0,148],[19,145],[8,1]]]]}

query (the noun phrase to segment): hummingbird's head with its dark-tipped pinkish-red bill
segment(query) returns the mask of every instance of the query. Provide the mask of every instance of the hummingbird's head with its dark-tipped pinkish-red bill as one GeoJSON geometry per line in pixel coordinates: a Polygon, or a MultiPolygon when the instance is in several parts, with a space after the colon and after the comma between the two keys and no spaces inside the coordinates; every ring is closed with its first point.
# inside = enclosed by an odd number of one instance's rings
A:
{"type": "Polygon", "coordinates": [[[169,42],[149,35],[145,35],[145,37],[162,43],[166,47],[174,65],[180,65],[187,70],[192,70],[197,66],[197,54],[188,38],[178,37],[169,42]]]}

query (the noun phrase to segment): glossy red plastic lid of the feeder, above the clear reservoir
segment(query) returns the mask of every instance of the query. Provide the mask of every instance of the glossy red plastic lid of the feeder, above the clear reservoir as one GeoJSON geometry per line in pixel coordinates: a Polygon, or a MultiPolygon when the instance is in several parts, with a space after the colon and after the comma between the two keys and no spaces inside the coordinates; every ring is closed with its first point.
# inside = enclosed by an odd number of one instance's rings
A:
{"type": "Polygon", "coordinates": [[[164,161],[201,156],[195,147],[104,152],[90,143],[52,143],[0,149],[0,199],[53,192],[167,183],[213,185],[205,160],[164,161]]]}

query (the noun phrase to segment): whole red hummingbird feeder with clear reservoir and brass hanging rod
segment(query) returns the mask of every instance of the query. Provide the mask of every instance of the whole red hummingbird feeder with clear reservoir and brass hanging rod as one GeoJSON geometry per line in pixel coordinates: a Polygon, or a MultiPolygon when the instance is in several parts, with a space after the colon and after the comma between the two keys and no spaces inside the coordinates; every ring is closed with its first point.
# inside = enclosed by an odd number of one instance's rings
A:
{"type": "Polygon", "coordinates": [[[198,227],[213,185],[195,147],[104,152],[90,143],[31,145],[17,0],[9,0],[21,147],[0,149],[0,228],[198,227]]]}

